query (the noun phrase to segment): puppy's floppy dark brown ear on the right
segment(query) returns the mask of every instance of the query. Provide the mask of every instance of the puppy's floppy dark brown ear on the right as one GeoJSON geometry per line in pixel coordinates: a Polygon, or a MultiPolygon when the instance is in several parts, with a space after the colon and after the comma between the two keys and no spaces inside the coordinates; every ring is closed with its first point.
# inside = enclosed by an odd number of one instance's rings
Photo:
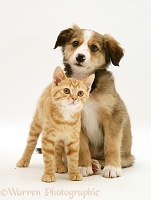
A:
{"type": "Polygon", "coordinates": [[[111,36],[104,35],[104,47],[107,50],[107,60],[110,59],[115,66],[119,66],[119,62],[124,55],[123,49],[119,43],[111,36]]]}

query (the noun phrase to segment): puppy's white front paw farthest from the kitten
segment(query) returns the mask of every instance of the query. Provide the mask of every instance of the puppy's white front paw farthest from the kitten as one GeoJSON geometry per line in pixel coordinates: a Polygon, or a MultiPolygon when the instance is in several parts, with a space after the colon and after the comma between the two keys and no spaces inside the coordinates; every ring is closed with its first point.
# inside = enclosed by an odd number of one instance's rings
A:
{"type": "Polygon", "coordinates": [[[105,178],[116,178],[122,175],[120,167],[105,166],[102,170],[102,176],[105,178]]]}

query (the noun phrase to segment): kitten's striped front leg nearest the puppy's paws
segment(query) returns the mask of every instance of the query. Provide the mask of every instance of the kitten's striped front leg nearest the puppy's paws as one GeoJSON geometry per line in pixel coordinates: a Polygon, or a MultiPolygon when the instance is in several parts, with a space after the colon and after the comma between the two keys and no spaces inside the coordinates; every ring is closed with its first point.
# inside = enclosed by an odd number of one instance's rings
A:
{"type": "Polygon", "coordinates": [[[70,180],[81,181],[82,174],[78,172],[79,160],[79,141],[72,141],[66,144],[67,158],[68,158],[68,172],[70,180]]]}

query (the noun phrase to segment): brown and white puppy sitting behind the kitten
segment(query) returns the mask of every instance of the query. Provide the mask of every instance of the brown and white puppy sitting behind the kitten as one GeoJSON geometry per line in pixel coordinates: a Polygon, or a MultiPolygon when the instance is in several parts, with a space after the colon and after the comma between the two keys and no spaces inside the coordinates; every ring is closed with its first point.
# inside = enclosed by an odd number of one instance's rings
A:
{"type": "Polygon", "coordinates": [[[58,35],[54,48],[62,47],[68,77],[83,79],[95,73],[90,98],[82,113],[79,166],[84,176],[92,174],[92,160],[103,167],[106,178],[121,176],[121,167],[134,163],[132,136],[127,109],[116,92],[108,71],[123,56],[119,43],[109,35],[80,29],[74,25],[58,35]]]}

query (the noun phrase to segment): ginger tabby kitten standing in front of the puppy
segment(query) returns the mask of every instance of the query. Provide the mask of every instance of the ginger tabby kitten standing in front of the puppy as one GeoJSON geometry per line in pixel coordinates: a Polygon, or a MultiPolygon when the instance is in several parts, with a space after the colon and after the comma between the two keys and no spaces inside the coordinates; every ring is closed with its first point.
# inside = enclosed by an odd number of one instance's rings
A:
{"type": "Polygon", "coordinates": [[[95,75],[80,81],[67,78],[60,67],[53,82],[42,93],[31,123],[27,145],[17,167],[27,167],[42,132],[44,174],[42,181],[55,181],[56,172],[66,172],[62,161],[65,149],[71,180],[82,180],[78,172],[81,110],[89,97],[95,75]],[[55,169],[56,156],[56,169],[55,169]]]}

